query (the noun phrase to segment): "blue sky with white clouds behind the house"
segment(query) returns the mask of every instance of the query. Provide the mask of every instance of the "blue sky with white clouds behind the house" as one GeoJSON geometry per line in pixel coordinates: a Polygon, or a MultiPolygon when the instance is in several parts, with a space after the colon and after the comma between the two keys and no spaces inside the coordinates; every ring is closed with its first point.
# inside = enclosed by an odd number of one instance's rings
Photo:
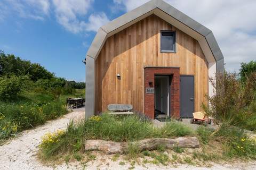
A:
{"type": "MultiPolygon", "coordinates": [[[[165,0],[211,29],[225,68],[256,60],[255,0],[165,0]],[[242,3],[241,3],[242,2],[242,3]]],[[[0,49],[57,77],[85,81],[86,52],[101,25],[148,0],[0,0],[0,49]]]]}

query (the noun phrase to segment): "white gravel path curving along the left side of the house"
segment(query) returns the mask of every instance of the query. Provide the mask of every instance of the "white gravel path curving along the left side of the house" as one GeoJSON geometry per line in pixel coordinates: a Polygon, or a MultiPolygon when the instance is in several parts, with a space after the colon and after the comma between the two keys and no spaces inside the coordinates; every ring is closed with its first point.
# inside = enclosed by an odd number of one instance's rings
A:
{"type": "Polygon", "coordinates": [[[35,129],[23,131],[19,136],[0,146],[0,169],[52,169],[37,161],[38,145],[47,132],[65,129],[71,118],[81,118],[84,112],[71,112],[35,129]]]}

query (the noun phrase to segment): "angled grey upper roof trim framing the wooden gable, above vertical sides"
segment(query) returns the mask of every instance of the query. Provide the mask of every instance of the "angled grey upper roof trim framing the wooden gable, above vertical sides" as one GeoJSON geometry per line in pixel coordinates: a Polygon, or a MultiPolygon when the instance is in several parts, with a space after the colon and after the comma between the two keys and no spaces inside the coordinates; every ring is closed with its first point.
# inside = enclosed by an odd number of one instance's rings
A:
{"type": "MultiPolygon", "coordinates": [[[[207,45],[209,46],[212,55],[215,58],[215,61],[223,59],[220,47],[210,29],[207,29],[206,27],[204,27],[204,25],[191,19],[189,16],[177,10],[163,0],[151,0],[135,8],[134,10],[127,12],[122,16],[119,16],[117,19],[110,21],[106,25],[103,25],[97,32],[97,35],[95,36],[87,52],[87,55],[91,56],[95,60],[95,58],[97,58],[98,54],[100,53],[100,50],[104,45],[107,37],[114,35],[115,33],[129,27],[129,25],[132,25],[135,22],[146,18],[150,14],[155,13],[156,8],[170,15],[170,17],[179,21],[180,23],[186,25],[186,27],[190,28],[191,30],[199,33],[199,35],[202,35],[205,38],[207,45]]],[[[218,65],[219,64],[217,63],[217,69],[223,67],[218,65]]]]}

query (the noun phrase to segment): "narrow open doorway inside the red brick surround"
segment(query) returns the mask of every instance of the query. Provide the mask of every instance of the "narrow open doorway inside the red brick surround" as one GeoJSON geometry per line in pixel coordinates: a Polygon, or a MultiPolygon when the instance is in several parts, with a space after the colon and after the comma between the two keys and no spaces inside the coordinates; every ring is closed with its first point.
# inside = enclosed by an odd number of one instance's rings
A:
{"type": "Polygon", "coordinates": [[[155,75],[155,117],[166,118],[169,112],[169,75],[155,75]]]}

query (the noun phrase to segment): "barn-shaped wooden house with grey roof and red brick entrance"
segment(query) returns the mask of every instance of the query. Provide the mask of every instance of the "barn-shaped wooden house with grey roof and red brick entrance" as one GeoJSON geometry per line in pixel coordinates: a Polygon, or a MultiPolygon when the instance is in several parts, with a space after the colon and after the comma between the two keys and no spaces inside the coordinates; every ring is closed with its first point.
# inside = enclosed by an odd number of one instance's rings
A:
{"type": "Polygon", "coordinates": [[[102,26],[86,55],[86,117],[132,104],[150,118],[201,111],[223,71],[211,30],[162,0],[102,26]]]}

